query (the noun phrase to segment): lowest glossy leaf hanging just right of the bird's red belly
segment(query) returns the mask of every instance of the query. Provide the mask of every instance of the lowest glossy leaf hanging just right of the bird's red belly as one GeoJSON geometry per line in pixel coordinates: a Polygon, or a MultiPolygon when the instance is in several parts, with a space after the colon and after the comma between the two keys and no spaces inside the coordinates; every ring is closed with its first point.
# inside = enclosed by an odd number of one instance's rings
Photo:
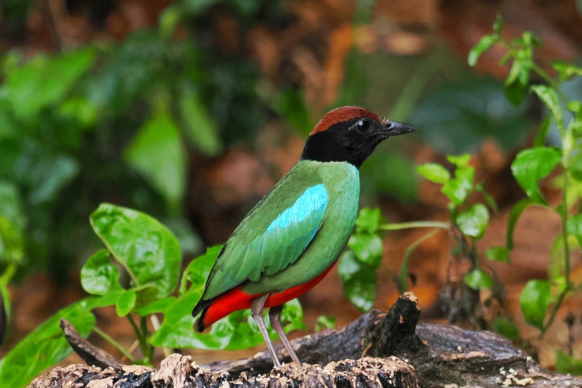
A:
{"type": "Polygon", "coordinates": [[[360,311],[370,311],[376,299],[374,268],[356,259],[353,251],[346,251],[339,259],[338,274],[347,299],[360,311]]]}

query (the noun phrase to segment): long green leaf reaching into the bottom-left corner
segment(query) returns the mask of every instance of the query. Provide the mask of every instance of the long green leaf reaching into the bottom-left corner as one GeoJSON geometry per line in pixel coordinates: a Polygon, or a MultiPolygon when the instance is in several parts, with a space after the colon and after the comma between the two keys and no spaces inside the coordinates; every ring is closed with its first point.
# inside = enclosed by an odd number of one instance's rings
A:
{"type": "Polygon", "coordinates": [[[72,352],[59,327],[61,318],[72,323],[79,334],[86,338],[95,326],[91,309],[110,305],[112,302],[110,296],[85,298],[59,310],[37,326],[0,360],[2,385],[10,388],[24,387],[42,371],[54,366],[72,352]]]}

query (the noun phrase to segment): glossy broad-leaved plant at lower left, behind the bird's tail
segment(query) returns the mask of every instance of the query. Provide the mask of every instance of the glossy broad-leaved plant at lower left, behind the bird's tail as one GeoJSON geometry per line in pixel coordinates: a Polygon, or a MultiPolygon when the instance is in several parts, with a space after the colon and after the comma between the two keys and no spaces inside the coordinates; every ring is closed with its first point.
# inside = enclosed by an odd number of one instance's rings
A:
{"type": "MultiPolygon", "coordinates": [[[[107,247],[95,252],[81,269],[81,285],[92,296],[57,312],[2,358],[0,381],[5,385],[23,387],[70,353],[59,328],[61,318],[68,319],[82,336],[95,332],[130,362],[147,365],[151,365],[155,347],[241,349],[262,342],[249,310],[223,318],[212,325],[208,334],[194,332],[191,311],[204,290],[221,245],[208,248],[180,275],[182,254],[178,240],[151,216],[102,204],[90,220],[107,247]],[[126,284],[120,283],[122,272],[129,276],[126,284]],[[132,326],[143,358],[134,358],[96,326],[93,310],[106,306],[115,306],[116,313],[132,326]],[[163,314],[164,319],[150,331],[148,320],[157,314],[163,314]]],[[[286,303],[282,313],[285,330],[303,328],[302,315],[298,301],[286,303]]],[[[274,330],[269,328],[269,332],[276,337],[274,330]]]]}

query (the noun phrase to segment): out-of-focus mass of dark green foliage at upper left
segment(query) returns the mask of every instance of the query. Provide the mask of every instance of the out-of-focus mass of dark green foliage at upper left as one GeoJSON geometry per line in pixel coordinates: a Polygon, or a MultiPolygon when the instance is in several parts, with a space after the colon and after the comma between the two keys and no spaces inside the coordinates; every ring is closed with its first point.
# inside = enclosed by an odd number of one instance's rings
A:
{"type": "MultiPolygon", "coordinates": [[[[26,13],[19,3],[3,4],[7,20],[26,13]]],[[[0,209],[3,268],[17,257],[21,275],[34,268],[66,279],[96,244],[80,220],[102,200],[164,217],[184,246],[200,250],[182,215],[187,151],[217,155],[250,138],[265,108],[257,67],[196,38],[218,3],[249,22],[280,12],[271,2],[184,1],[162,13],[158,30],[119,44],[29,61],[16,50],[2,56],[0,183],[12,193],[0,209]],[[187,35],[170,40],[178,24],[187,35]],[[6,209],[26,211],[16,221],[6,209]]]]}

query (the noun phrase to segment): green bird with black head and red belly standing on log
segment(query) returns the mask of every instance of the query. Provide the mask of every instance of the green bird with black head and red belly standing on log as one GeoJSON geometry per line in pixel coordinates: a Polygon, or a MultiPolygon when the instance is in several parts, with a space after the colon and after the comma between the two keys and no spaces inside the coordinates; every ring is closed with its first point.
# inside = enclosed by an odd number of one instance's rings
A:
{"type": "Polygon", "coordinates": [[[241,309],[251,315],[275,366],[281,362],[263,312],[293,362],[281,326],[283,304],[306,293],[346,247],[360,201],[359,168],[388,137],[416,130],[360,106],[326,113],[307,137],[299,162],[251,209],[226,240],[192,316],[196,330],[241,309]]]}

